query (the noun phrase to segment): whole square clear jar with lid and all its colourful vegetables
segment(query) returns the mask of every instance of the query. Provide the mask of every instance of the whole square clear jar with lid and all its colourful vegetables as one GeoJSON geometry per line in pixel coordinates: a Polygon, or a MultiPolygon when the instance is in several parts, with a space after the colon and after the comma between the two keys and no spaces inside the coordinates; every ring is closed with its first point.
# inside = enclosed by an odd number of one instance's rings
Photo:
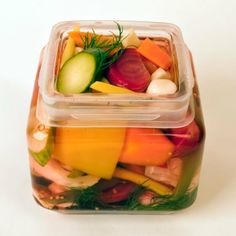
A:
{"type": "Polygon", "coordinates": [[[63,22],[27,127],[33,196],[65,212],[171,212],[197,194],[204,123],[179,29],[63,22]]]}

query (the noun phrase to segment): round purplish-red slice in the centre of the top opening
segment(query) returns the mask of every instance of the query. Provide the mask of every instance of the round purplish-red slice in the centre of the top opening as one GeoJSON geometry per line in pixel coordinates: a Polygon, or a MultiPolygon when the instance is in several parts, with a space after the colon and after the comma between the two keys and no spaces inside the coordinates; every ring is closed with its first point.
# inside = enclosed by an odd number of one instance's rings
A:
{"type": "Polygon", "coordinates": [[[134,48],[127,48],[110,66],[107,77],[110,83],[135,92],[144,92],[150,83],[150,74],[134,48]]]}

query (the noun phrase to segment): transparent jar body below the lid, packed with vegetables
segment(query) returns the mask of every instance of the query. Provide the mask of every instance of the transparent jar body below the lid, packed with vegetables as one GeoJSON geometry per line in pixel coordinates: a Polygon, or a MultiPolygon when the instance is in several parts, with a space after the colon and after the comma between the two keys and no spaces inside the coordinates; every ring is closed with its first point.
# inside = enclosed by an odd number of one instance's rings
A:
{"type": "Polygon", "coordinates": [[[182,127],[48,126],[37,116],[42,60],[27,127],[39,205],[76,214],[160,214],[194,202],[205,139],[195,79],[195,116],[182,127]]]}

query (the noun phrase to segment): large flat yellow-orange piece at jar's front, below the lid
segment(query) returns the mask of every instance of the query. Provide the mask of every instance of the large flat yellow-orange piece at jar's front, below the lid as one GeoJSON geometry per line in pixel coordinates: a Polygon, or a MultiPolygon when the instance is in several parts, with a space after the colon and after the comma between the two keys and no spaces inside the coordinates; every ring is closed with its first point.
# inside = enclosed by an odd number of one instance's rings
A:
{"type": "Polygon", "coordinates": [[[87,174],[112,178],[125,138],[125,128],[57,128],[55,158],[87,174]]]}

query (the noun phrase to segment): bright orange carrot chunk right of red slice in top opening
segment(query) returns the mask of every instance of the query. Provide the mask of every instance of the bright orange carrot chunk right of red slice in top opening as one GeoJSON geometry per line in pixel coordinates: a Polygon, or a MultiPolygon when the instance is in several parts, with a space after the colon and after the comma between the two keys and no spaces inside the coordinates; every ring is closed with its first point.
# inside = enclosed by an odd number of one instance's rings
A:
{"type": "Polygon", "coordinates": [[[171,58],[168,53],[149,38],[146,38],[142,42],[137,51],[155,65],[160,66],[165,70],[171,65],[171,58]]]}

